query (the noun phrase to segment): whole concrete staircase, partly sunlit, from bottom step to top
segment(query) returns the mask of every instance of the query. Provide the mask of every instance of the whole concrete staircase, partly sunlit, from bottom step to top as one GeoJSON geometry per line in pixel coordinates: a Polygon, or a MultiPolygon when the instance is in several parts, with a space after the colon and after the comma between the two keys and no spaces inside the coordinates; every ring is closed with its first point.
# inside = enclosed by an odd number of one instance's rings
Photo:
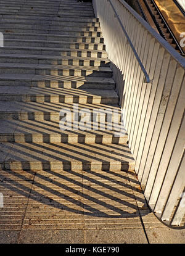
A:
{"type": "Polygon", "coordinates": [[[49,1],[1,2],[0,26],[1,146],[9,142],[2,167],[133,170],[125,134],[59,128],[60,110],[72,110],[74,103],[91,112],[118,108],[91,4],[52,1],[51,8],[49,1]]]}

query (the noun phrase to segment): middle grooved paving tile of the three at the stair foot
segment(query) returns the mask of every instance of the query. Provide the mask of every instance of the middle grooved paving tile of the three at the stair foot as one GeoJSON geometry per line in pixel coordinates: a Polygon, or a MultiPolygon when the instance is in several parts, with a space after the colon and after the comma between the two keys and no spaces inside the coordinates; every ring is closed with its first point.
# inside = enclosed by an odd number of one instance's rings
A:
{"type": "Polygon", "coordinates": [[[83,229],[82,196],[81,171],[36,173],[23,229],[83,229]]]}

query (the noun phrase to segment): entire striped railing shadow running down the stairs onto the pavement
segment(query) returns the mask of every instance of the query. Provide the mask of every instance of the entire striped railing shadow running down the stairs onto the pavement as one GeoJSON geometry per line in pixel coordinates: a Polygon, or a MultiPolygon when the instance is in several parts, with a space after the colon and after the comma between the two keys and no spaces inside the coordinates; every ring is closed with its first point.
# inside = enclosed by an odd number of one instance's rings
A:
{"type": "MultiPolygon", "coordinates": [[[[84,33],[88,33],[88,35],[92,37],[91,43],[93,43],[92,31],[81,31],[80,33],[81,36],[83,36],[84,33]]],[[[101,37],[101,34],[97,32],[97,36],[101,37]]],[[[95,45],[94,47],[97,46],[95,45]]],[[[89,49],[86,57],[92,57],[90,51],[91,49],[89,49]]],[[[81,57],[82,52],[83,50],[79,49],[76,57],[81,57]]],[[[61,58],[61,56],[59,57],[61,58]]],[[[133,160],[133,158],[126,155],[128,152],[127,147],[125,147],[124,144],[120,144],[119,146],[116,144],[106,144],[104,145],[104,151],[102,152],[99,144],[91,144],[91,149],[89,149],[87,144],[71,144],[72,147],[69,147],[69,144],[67,144],[67,146],[62,146],[61,144],[51,143],[49,139],[46,139],[46,141],[43,139],[43,142],[47,142],[44,146],[43,144],[39,144],[39,142],[34,142],[33,134],[35,132],[43,134],[44,138],[44,135],[47,136],[48,133],[52,133],[55,126],[59,124],[57,121],[51,120],[51,110],[54,108],[56,111],[59,110],[60,107],[60,102],[53,103],[51,101],[52,95],[60,94],[62,91],[66,96],[69,94],[75,96],[75,103],[78,103],[79,94],[82,96],[89,96],[89,98],[92,97],[92,95],[89,95],[88,93],[88,88],[84,88],[84,85],[86,85],[84,80],[88,77],[96,77],[97,72],[100,71],[99,68],[96,67],[96,60],[90,59],[88,67],[88,65],[85,65],[83,59],[79,59],[78,64],[80,67],[77,67],[77,69],[79,70],[80,75],[75,76],[73,66],[76,66],[76,60],[73,62],[73,56],[70,56],[70,54],[68,54],[67,57],[68,65],[71,67],[69,76],[62,73],[62,67],[60,69],[62,60],[58,60],[55,65],[53,64],[54,68],[59,68],[59,73],[57,73],[57,75],[52,75],[52,73],[48,72],[47,75],[43,74],[43,79],[45,78],[45,80],[41,87],[43,91],[47,88],[51,88],[51,90],[49,91],[49,94],[47,94],[47,90],[45,91],[47,102],[44,102],[44,104],[41,103],[39,107],[42,107],[42,110],[46,110],[45,112],[47,112],[47,115],[45,115],[45,117],[50,123],[47,123],[47,126],[43,128],[44,118],[42,121],[36,120],[37,117],[35,116],[35,112],[39,110],[38,105],[31,107],[31,112],[28,114],[28,120],[33,120],[35,123],[34,126],[28,128],[30,132],[28,133],[27,131],[27,133],[23,135],[25,136],[25,141],[23,142],[28,143],[16,142],[16,145],[19,148],[14,148],[13,145],[12,149],[10,149],[7,159],[4,161],[3,171],[0,171],[0,185],[3,188],[28,198],[29,200],[33,199],[35,202],[41,202],[44,205],[54,207],[55,209],[65,210],[75,214],[104,218],[139,217],[139,211],[142,211],[143,214],[148,214],[150,212],[149,210],[147,210],[146,213],[143,211],[143,205],[146,204],[146,201],[142,196],[141,189],[138,188],[139,183],[134,179],[134,172],[129,170],[129,161],[133,160]],[[88,70],[92,70],[92,73],[88,73],[87,75],[86,72],[88,70]],[[62,75],[65,76],[66,81],[71,83],[70,89],[64,88],[64,82],[62,81],[64,78],[61,78],[62,75]],[[49,79],[56,82],[56,87],[52,87],[52,82],[50,82],[49,79]],[[81,83],[81,85],[77,86],[78,83],[81,83]],[[76,88],[79,89],[78,95],[75,90],[76,88]],[[44,131],[42,131],[42,129],[44,129],[44,131]],[[34,147],[30,146],[30,142],[34,147]],[[110,151],[114,151],[114,155],[109,155],[109,157],[107,157],[110,151]],[[94,155],[97,153],[99,154],[98,156],[94,155]],[[119,161],[120,157],[123,155],[125,155],[127,160],[124,165],[121,166],[120,171],[110,170],[110,160],[119,161]],[[47,158],[50,160],[47,160],[47,158]],[[105,160],[103,160],[103,158],[105,160]],[[35,163],[40,162],[42,171],[37,171],[36,169],[31,170],[30,160],[27,159],[31,159],[31,161],[35,163]],[[81,170],[73,170],[72,160],[78,163],[81,162],[81,170]],[[92,169],[91,160],[99,162],[99,167],[101,167],[101,169],[92,169]],[[19,170],[15,170],[15,168],[12,167],[12,162],[14,161],[20,163],[20,168],[23,172],[19,173],[19,170]],[[52,162],[57,163],[59,167],[65,162],[65,166],[63,165],[61,169],[56,169],[53,167],[52,162]],[[133,176],[133,178],[128,176],[128,173],[130,176],[133,176]],[[10,175],[12,178],[9,177],[10,175]],[[30,178],[28,178],[27,175],[30,175],[30,178]],[[72,175],[73,178],[69,175],[72,175]],[[26,181],[26,183],[23,184],[22,181],[26,181]],[[70,183],[70,185],[68,183],[70,183]],[[51,184],[55,186],[55,189],[52,188],[51,184]],[[36,189],[41,189],[43,192],[38,192],[36,189]],[[64,189],[65,192],[61,192],[60,189],[64,189]],[[70,192],[72,196],[68,196],[68,192],[70,192]],[[46,196],[47,193],[52,196],[46,196]],[[76,196],[78,196],[78,199],[76,199],[76,196]],[[70,202],[73,206],[69,207],[67,203],[63,204],[58,202],[54,199],[55,197],[64,199],[65,202],[70,202]],[[91,203],[95,204],[95,206],[92,206],[91,203]],[[80,209],[75,209],[75,207],[80,207],[80,209]],[[99,207],[103,207],[103,210],[100,210],[99,207]],[[124,208],[126,210],[124,210],[124,208]],[[111,212],[107,213],[109,211],[111,212]]],[[[100,67],[109,67],[109,62],[100,59],[102,57],[101,52],[97,52],[97,57],[99,58],[100,67]]],[[[94,94],[99,95],[98,90],[94,91],[94,94]]],[[[37,102],[36,97],[32,97],[31,99],[33,102],[37,102]]],[[[88,103],[91,104],[92,102],[88,100],[88,103]]],[[[101,103],[102,102],[100,102],[100,104],[101,103]]],[[[85,103],[81,103],[81,106],[87,107],[85,103]]],[[[97,108],[97,105],[93,105],[93,107],[97,108]]],[[[110,106],[108,105],[108,107],[110,106]]],[[[27,112],[29,112],[29,104],[27,112]]],[[[20,117],[19,115],[13,115],[12,119],[14,118],[19,120],[20,117]]],[[[21,120],[15,133],[22,134],[23,130],[27,128],[28,120],[21,120]]],[[[59,130],[59,126],[58,131],[54,132],[57,134],[62,133],[59,130]]],[[[79,131],[71,131],[71,133],[78,134],[79,131]]],[[[94,134],[95,132],[86,131],[86,133],[94,134]]],[[[109,134],[109,131],[105,130],[104,133],[109,134]]],[[[59,140],[59,143],[60,142],[62,141],[59,140]]]]}

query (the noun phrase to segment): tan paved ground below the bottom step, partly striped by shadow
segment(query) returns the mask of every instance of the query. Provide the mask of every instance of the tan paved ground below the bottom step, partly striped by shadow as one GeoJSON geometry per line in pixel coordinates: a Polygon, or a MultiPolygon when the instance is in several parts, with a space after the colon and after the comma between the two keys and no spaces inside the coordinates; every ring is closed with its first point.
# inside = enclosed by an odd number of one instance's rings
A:
{"type": "Polygon", "coordinates": [[[1,174],[1,243],[185,243],[150,212],[133,171],[1,174]]]}

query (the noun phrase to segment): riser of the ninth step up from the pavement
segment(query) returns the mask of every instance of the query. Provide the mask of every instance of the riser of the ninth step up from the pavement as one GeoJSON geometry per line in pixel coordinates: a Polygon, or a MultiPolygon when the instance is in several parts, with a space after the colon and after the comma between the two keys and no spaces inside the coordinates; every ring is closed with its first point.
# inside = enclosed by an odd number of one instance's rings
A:
{"type": "Polygon", "coordinates": [[[67,48],[67,49],[80,49],[80,50],[105,50],[105,45],[104,44],[79,44],[79,43],[42,43],[42,42],[27,42],[27,41],[14,41],[10,40],[8,41],[7,39],[4,40],[4,46],[23,46],[23,47],[51,47],[51,48],[67,48]]]}

